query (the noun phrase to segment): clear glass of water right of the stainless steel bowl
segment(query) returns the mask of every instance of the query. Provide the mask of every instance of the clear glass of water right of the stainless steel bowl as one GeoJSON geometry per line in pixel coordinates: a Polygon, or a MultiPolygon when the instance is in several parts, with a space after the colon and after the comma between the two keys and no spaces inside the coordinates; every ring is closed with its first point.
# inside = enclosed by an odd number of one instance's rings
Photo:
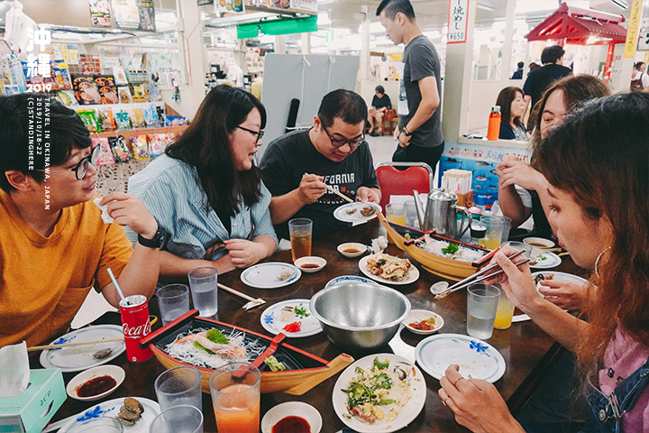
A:
{"type": "Polygon", "coordinates": [[[467,334],[487,340],[493,333],[500,289],[477,282],[467,290],[467,334]]]}

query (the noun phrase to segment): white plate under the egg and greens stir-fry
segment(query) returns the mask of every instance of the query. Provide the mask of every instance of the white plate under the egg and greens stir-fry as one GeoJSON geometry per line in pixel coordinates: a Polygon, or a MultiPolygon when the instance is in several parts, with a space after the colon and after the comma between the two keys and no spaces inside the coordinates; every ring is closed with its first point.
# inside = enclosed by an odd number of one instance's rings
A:
{"type": "Polygon", "coordinates": [[[415,364],[410,363],[406,358],[401,356],[392,355],[392,354],[378,354],[378,355],[368,355],[364,358],[359,359],[349,367],[347,367],[343,373],[338,377],[334,385],[334,393],[332,395],[332,401],[334,403],[334,411],[338,418],[343,421],[347,427],[352,428],[355,431],[360,433],[372,433],[372,432],[385,432],[390,433],[397,431],[400,428],[406,427],[410,424],[413,419],[416,419],[419,412],[424,409],[426,395],[426,385],[424,380],[424,374],[421,373],[415,364]],[[349,386],[349,381],[356,376],[356,367],[361,367],[363,370],[370,368],[373,364],[374,358],[379,357],[379,361],[383,362],[385,359],[388,359],[390,367],[393,364],[407,364],[411,365],[415,369],[415,374],[409,379],[410,380],[410,400],[407,401],[406,405],[399,407],[396,403],[388,404],[387,406],[382,406],[381,409],[384,410],[386,416],[388,410],[391,407],[395,407],[398,410],[397,418],[392,419],[391,421],[386,421],[385,419],[377,419],[374,424],[366,424],[360,419],[355,417],[347,418],[351,416],[349,410],[347,410],[347,394],[343,391],[349,386]]]}

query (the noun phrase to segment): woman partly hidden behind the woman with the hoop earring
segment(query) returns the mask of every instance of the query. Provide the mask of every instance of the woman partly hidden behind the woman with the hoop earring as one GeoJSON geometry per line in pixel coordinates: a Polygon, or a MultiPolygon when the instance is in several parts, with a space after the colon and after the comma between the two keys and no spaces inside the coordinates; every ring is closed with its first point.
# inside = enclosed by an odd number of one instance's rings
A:
{"type": "MultiPolygon", "coordinates": [[[[532,137],[533,148],[542,139],[550,134],[553,126],[563,123],[563,116],[571,113],[583,102],[610,95],[610,90],[599,78],[590,75],[566,77],[555,82],[545,92],[539,101],[533,115],[536,116],[535,134],[532,137]]],[[[532,154],[532,166],[535,155],[532,154]]],[[[514,155],[507,155],[498,163],[498,202],[503,215],[512,218],[512,228],[523,224],[527,218],[534,215],[535,229],[533,234],[550,238],[553,230],[548,223],[548,211],[541,206],[540,194],[547,189],[547,180],[537,170],[524,161],[518,160],[514,155]],[[519,195],[516,186],[526,189],[521,191],[525,200],[519,195]],[[528,194],[526,194],[526,192],[528,194]]],[[[544,281],[541,293],[563,309],[580,309],[583,302],[589,298],[592,286],[583,285],[574,281],[544,281]]]]}

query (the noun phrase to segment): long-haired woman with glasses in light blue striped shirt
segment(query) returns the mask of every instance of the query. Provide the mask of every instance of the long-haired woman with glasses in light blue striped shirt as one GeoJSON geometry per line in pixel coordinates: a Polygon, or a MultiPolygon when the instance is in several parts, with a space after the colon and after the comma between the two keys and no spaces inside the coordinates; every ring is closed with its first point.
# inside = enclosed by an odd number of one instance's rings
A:
{"type": "Polygon", "coordinates": [[[259,99],[217,86],[165,154],[129,180],[129,192],[168,232],[162,278],[185,278],[201,266],[246,268],[275,251],[270,192],[253,163],[265,124],[259,99]]]}

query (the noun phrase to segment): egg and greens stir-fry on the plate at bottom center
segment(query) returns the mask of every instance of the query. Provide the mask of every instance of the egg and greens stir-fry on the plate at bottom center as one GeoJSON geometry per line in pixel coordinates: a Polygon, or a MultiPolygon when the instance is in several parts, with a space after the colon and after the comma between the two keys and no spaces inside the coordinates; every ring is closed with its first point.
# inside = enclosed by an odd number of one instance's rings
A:
{"type": "Polygon", "coordinates": [[[396,419],[411,398],[411,380],[416,374],[412,365],[398,364],[390,365],[387,359],[381,362],[377,356],[367,369],[356,367],[348,388],[342,390],[347,394],[346,416],[365,424],[396,419]]]}

